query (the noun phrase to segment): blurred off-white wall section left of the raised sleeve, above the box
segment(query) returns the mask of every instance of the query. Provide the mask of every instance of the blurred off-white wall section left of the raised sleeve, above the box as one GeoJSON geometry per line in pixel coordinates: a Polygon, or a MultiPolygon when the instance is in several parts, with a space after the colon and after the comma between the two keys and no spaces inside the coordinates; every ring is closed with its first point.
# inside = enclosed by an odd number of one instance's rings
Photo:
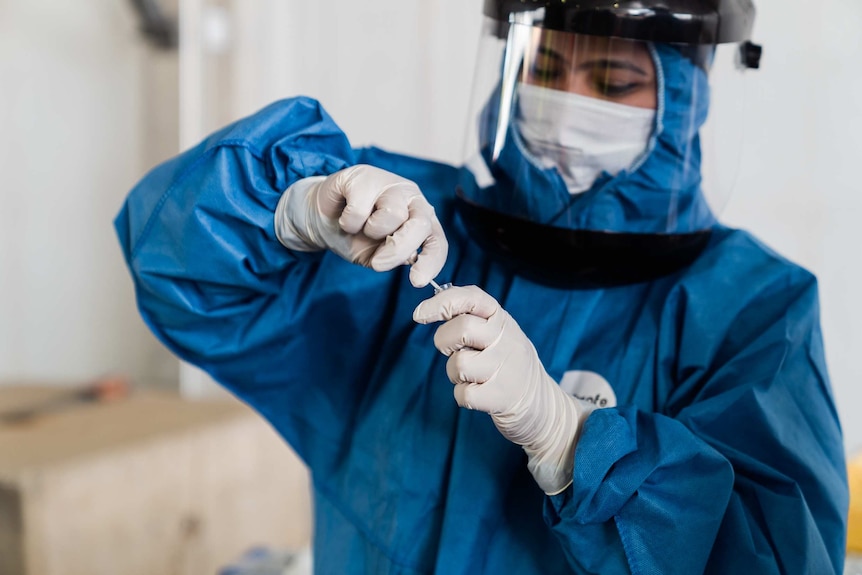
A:
{"type": "Polygon", "coordinates": [[[0,383],[176,379],[112,227],[177,148],[176,104],[148,88],[175,92],[176,65],[133,16],[124,1],[0,0],[0,383]]]}

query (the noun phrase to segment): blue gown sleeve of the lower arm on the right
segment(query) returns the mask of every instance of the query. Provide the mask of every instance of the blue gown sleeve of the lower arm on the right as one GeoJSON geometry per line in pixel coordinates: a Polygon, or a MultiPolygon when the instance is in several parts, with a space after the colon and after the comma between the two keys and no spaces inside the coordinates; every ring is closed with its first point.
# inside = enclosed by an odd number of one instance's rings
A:
{"type": "Polygon", "coordinates": [[[694,283],[664,310],[673,327],[660,336],[656,369],[675,382],[666,403],[598,410],[585,422],[573,485],[545,498],[573,565],[842,572],[847,480],[816,280],[787,264],[736,265],[723,280],[744,285],[727,288],[733,301],[715,305],[722,288],[694,283]]]}

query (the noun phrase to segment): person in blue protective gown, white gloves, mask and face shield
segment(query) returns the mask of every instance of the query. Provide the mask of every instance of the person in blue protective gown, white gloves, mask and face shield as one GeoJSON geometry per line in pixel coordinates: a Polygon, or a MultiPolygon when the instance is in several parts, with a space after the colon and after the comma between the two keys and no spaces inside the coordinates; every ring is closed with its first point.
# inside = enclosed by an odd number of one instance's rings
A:
{"type": "Polygon", "coordinates": [[[147,174],[144,319],[308,464],[317,573],[841,573],[815,278],[702,179],[753,6],[484,12],[463,165],[292,98],[147,174]]]}

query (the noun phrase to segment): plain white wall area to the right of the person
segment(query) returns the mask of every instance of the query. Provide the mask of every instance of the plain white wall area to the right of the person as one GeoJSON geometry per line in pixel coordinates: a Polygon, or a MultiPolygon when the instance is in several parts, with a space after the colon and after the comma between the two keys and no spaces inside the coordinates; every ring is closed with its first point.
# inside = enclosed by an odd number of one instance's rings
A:
{"type": "Polygon", "coordinates": [[[849,451],[862,451],[862,2],[759,0],[763,67],[749,85],[728,223],[819,279],[832,385],[849,451]]]}

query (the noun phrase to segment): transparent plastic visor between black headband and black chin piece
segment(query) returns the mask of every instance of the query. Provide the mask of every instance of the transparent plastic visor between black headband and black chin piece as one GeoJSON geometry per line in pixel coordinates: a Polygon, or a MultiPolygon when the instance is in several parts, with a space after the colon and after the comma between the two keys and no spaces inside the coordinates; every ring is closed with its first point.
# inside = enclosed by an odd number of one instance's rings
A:
{"type": "Polygon", "coordinates": [[[680,234],[715,225],[742,143],[737,46],[485,23],[459,193],[553,227],[680,234]],[[718,72],[716,74],[716,72],[718,72]],[[711,77],[721,76],[720,91],[711,77]]]}

